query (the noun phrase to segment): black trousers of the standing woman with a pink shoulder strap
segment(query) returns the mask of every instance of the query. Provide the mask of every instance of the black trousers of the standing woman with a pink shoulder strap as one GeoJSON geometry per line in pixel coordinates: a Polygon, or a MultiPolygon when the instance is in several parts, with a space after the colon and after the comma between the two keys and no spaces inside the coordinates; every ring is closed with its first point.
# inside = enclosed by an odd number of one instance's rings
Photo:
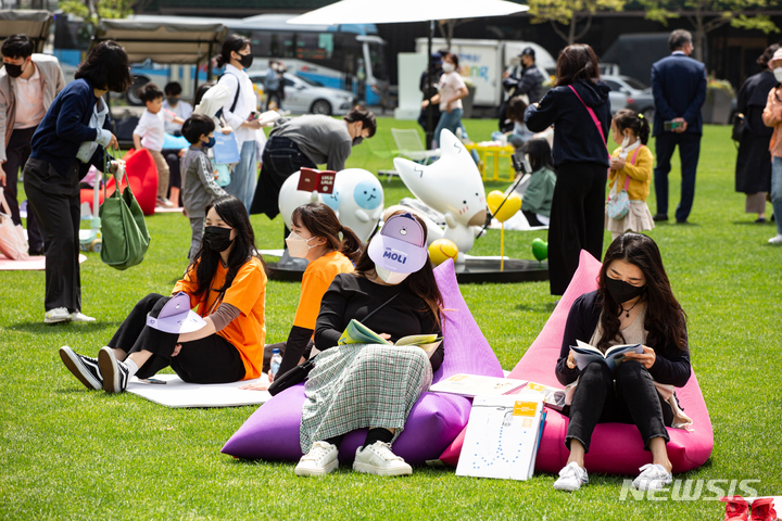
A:
{"type": "Polygon", "coordinates": [[[557,167],[548,224],[552,295],[565,293],[581,250],[598,260],[603,256],[607,170],[596,163],[565,163],[557,167]]]}

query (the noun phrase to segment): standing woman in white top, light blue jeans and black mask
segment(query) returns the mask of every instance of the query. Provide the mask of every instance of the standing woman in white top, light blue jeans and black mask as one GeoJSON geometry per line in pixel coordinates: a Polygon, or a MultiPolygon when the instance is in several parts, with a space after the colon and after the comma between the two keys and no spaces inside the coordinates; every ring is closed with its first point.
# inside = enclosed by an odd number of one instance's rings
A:
{"type": "Polygon", "coordinates": [[[217,55],[217,66],[225,66],[225,74],[217,85],[225,86],[228,98],[223,105],[223,118],[234,129],[239,143],[241,161],[231,171],[230,182],[225,191],[238,198],[250,211],[255,185],[257,183],[257,165],[255,158],[255,139],[261,124],[250,116],[257,109],[257,97],[253,90],[250,76],[244,72],[253,62],[250,39],[241,35],[230,35],[223,42],[217,55]]]}

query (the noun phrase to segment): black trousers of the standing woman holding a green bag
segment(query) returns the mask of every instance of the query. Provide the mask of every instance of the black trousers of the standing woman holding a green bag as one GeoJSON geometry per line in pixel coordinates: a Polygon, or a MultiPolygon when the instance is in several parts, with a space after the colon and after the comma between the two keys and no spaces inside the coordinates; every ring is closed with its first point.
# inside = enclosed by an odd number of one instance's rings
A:
{"type": "Polygon", "coordinates": [[[46,252],[46,310],[81,310],[78,230],[80,224],[79,162],[65,176],[48,162],[30,158],[24,169],[27,199],[43,234],[46,252]]]}

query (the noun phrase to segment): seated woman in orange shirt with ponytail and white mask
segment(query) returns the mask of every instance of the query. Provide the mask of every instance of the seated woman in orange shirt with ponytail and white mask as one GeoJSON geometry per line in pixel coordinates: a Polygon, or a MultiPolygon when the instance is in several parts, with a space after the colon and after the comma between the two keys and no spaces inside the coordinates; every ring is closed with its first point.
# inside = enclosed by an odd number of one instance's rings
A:
{"type": "MultiPolygon", "coordinates": [[[[267,344],[264,348],[264,371],[269,369],[274,350],[282,355],[277,374],[285,374],[310,357],[320,300],[337,275],[353,271],[353,263],[358,262],[363,249],[353,230],[342,226],[335,211],[324,203],[310,203],[293,211],[286,244],[292,257],[306,258],[310,264],[302,276],[299,307],[288,341],[267,344]]],[[[274,380],[273,374],[269,380],[274,380]]],[[[267,386],[251,383],[241,389],[265,390],[267,386]]]]}

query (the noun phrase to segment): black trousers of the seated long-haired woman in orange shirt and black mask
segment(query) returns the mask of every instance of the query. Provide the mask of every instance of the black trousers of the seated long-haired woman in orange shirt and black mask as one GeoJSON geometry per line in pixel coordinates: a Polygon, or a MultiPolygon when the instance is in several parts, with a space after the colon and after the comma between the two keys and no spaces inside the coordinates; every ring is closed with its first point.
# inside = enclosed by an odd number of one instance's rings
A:
{"type": "Polygon", "coordinates": [[[125,353],[149,351],[152,356],[139,367],[138,378],[150,378],[171,366],[179,378],[191,383],[227,383],[244,378],[244,364],[239,350],[219,334],[181,342],[181,351],[172,356],[179,338],[147,326],[147,315],[156,317],[169,296],[150,293],[141,298],[117,329],[109,347],[125,353]]]}

